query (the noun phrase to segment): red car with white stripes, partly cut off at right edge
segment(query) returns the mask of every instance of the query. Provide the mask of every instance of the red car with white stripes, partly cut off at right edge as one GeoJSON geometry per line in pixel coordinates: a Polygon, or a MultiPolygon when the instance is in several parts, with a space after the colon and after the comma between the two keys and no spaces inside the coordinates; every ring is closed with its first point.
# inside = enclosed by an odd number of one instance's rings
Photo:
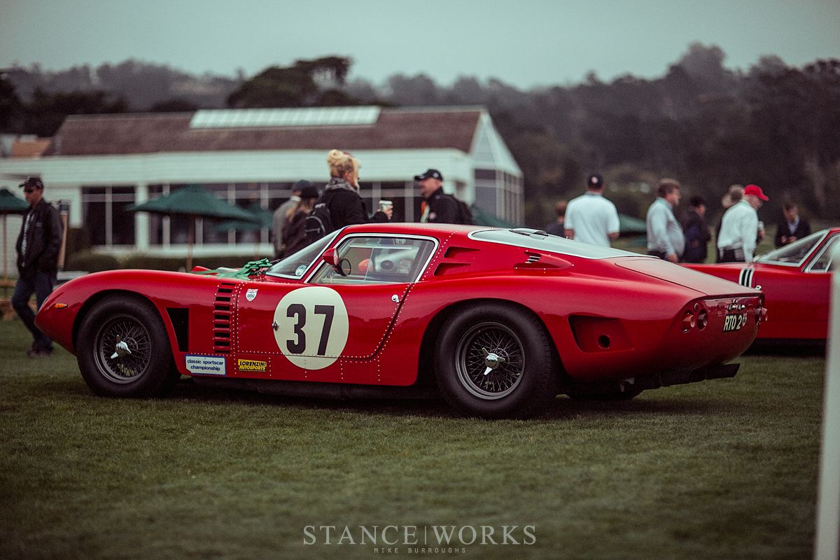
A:
{"type": "Polygon", "coordinates": [[[823,229],[752,263],[685,266],[764,292],[768,315],[759,329],[759,340],[825,342],[832,253],[838,243],[840,228],[823,229]]]}

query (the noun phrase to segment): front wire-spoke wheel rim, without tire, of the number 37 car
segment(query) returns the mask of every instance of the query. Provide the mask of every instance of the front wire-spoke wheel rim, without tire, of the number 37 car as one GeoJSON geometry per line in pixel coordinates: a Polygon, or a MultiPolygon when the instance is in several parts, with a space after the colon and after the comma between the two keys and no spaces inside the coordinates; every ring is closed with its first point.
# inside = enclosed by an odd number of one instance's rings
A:
{"type": "Polygon", "coordinates": [[[152,339],[142,322],[116,315],[102,322],[94,337],[97,369],[109,381],[133,383],[149,369],[152,339]]]}

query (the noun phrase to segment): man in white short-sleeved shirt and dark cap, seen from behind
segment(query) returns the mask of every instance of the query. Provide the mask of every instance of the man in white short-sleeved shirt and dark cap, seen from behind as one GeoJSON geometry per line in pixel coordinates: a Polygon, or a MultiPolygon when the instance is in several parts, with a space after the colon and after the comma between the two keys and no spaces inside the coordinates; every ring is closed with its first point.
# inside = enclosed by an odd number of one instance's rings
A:
{"type": "Polygon", "coordinates": [[[618,238],[616,205],[604,198],[604,179],[593,173],[586,178],[585,194],[566,206],[564,233],[567,238],[609,247],[618,238]]]}

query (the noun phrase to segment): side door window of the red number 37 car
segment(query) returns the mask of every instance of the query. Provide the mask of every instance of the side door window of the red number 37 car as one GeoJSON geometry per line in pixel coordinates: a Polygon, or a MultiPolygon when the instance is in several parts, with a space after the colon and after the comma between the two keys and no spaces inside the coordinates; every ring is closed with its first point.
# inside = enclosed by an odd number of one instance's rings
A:
{"type": "Polygon", "coordinates": [[[337,254],[344,275],[327,263],[313,284],[406,284],[423,272],[434,242],[423,238],[358,236],[345,239],[337,254]]]}

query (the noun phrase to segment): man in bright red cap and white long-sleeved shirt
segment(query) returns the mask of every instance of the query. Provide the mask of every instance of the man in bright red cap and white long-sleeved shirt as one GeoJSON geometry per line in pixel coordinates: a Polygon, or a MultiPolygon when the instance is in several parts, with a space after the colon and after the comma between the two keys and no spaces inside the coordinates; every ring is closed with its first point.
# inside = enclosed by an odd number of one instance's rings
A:
{"type": "Polygon", "coordinates": [[[722,263],[752,262],[759,214],[756,212],[769,198],[758,185],[743,189],[743,198],[723,214],[721,233],[717,236],[717,252],[722,263]]]}

